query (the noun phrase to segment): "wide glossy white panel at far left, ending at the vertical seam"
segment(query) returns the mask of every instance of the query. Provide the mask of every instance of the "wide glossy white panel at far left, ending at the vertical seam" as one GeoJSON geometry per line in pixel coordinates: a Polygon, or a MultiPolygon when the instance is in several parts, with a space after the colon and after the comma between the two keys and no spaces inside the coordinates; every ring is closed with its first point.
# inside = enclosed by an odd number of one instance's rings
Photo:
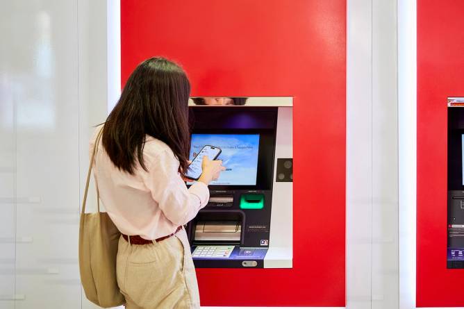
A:
{"type": "Polygon", "coordinates": [[[2,268],[15,275],[14,308],[78,308],[76,2],[3,1],[1,15],[16,240],[2,268]]]}

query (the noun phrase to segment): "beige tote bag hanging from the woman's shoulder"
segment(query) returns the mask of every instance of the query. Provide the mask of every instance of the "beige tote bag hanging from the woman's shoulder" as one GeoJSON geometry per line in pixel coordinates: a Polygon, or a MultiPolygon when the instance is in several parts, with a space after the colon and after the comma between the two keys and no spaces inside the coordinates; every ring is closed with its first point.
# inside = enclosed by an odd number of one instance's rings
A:
{"type": "Polygon", "coordinates": [[[121,233],[108,214],[100,212],[97,183],[95,183],[95,187],[97,188],[98,211],[85,213],[92,162],[97,153],[102,132],[103,128],[97,135],[85,183],[79,226],[79,269],[85,297],[100,307],[110,308],[126,303],[124,296],[119,292],[116,280],[117,244],[121,233]]]}

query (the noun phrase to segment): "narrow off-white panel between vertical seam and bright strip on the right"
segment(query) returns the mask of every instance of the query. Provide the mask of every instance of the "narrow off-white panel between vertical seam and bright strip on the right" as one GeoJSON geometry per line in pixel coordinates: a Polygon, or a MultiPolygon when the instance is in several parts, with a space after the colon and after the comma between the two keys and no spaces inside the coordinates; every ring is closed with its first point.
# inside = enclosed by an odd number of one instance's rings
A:
{"type": "Polygon", "coordinates": [[[372,1],[372,308],[398,308],[397,1],[372,1]]]}

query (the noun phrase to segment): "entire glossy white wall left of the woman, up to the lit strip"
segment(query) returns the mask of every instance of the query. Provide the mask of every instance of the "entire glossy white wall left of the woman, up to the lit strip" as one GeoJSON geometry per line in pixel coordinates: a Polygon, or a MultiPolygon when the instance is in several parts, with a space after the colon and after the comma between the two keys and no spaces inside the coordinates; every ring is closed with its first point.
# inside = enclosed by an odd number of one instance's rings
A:
{"type": "Polygon", "coordinates": [[[88,140],[107,115],[106,5],[1,2],[1,309],[95,308],[77,240],[88,140]]]}

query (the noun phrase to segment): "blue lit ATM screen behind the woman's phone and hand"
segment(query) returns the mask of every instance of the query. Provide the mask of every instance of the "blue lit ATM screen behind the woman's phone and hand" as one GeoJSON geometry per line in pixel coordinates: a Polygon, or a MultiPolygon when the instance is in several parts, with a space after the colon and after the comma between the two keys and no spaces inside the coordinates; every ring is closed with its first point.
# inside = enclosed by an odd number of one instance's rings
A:
{"type": "Polygon", "coordinates": [[[256,185],[259,134],[192,134],[190,160],[204,145],[219,147],[226,170],[210,185],[256,185]]]}

